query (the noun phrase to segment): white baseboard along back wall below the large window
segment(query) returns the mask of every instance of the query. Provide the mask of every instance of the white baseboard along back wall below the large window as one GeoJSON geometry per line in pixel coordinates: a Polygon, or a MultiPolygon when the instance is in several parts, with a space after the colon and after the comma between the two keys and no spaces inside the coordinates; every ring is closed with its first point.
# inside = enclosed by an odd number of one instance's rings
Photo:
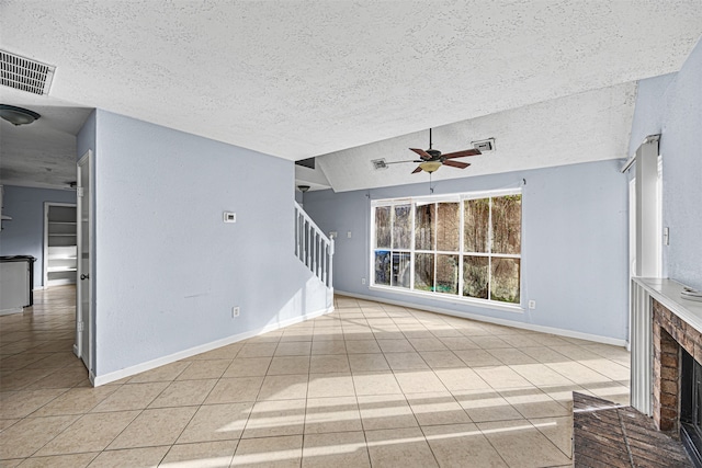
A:
{"type": "Polygon", "coordinates": [[[626,340],[619,340],[616,338],[610,338],[610,336],[601,336],[599,334],[590,334],[590,333],[584,333],[584,332],[574,331],[574,330],[565,330],[565,329],[559,329],[559,328],[554,328],[554,327],[537,326],[537,324],[534,324],[534,323],[524,323],[524,322],[519,322],[519,321],[516,321],[516,320],[506,320],[506,319],[499,319],[499,318],[496,318],[496,317],[480,316],[478,313],[456,312],[455,310],[443,309],[441,307],[419,306],[417,304],[405,303],[403,300],[386,299],[386,298],[383,298],[383,297],[366,296],[366,295],[363,295],[363,294],[347,293],[347,292],[342,292],[342,290],[337,290],[336,294],[338,294],[340,296],[353,297],[353,298],[356,298],[356,299],[365,299],[365,300],[373,300],[375,303],[390,304],[393,306],[401,306],[401,307],[409,307],[411,309],[428,310],[430,312],[437,312],[437,313],[443,313],[443,315],[446,315],[446,316],[460,317],[462,319],[477,320],[477,321],[482,321],[482,322],[495,323],[495,324],[506,326],[506,327],[512,327],[512,328],[518,328],[518,329],[522,329],[522,330],[537,331],[537,332],[541,332],[541,333],[551,333],[551,334],[556,334],[556,335],[559,335],[559,336],[577,338],[578,340],[592,341],[592,342],[596,342],[596,343],[611,344],[611,345],[614,345],[614,346],[626,346],[627,345],[626,340]]]}

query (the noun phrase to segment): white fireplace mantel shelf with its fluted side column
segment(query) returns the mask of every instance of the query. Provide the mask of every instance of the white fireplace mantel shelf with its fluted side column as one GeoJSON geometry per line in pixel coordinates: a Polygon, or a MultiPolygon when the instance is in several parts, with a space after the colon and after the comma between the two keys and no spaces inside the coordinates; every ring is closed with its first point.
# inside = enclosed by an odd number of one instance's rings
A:
{"type": "Polygon", "coordinates": [[[683,285],[672,279],[633,278],[630,344],[632,352],[631,402],[644,414],[653,415],[652,298],[702,333],[702,303],[683,299],[683,285]]]}

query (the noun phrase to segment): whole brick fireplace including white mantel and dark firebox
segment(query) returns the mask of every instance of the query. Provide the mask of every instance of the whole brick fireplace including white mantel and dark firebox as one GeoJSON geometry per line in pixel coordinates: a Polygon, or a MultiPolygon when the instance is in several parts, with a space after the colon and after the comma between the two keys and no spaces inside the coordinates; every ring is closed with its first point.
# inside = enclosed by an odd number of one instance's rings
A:
{"type": "Polygon", "coordinates": [[[632,281],[631,402],[702,468],[702,303],[682,290],[672,279],[632,281]]]}

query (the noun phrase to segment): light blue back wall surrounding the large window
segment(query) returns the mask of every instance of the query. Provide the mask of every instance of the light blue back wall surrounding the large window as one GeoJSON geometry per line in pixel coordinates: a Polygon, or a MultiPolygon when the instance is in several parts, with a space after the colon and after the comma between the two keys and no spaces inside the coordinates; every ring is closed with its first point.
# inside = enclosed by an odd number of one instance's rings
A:
{"type": "Polygon", "coordinates": [[[389,294],[361,284],[361,278],[370,278],[370,201],[427,195],[427,182],[338,194],[309,192],[305,209],[321,229],[339,232],[336,290],[624,340],[627,183],[620,167],[621,161],[610,160],[435,184],[434,194],[442,194],[518,187],[526,180],[522,187],[522,300],[534,299],[537,307],[522,313],[389,294]]]}

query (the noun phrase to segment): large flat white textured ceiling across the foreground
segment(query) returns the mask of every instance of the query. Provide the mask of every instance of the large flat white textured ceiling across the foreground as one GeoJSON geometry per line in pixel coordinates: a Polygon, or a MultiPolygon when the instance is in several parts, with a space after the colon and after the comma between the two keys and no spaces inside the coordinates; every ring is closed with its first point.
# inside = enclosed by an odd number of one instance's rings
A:
{"type": "Polygon", "coordinates": [[[296,160],[677,71],[701,19],[698,0],[2,0],[0,46],[55,65],[69,106],[296,160]]]}

